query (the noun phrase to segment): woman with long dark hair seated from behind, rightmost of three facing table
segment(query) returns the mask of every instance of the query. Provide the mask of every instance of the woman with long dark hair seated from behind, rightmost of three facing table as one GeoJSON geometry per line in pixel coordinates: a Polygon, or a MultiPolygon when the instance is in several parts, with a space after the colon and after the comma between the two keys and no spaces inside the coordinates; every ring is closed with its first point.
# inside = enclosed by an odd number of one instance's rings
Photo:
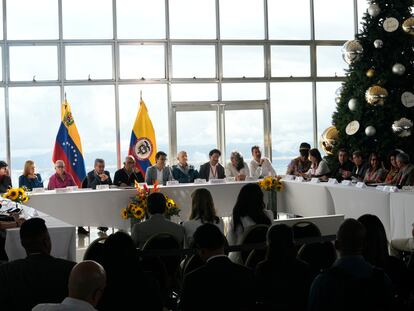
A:
{"type": "MultiPolygon", "coordinates": [[[[243,234],[250,226],[256,224],[271,225],[273,213],[265,209],[263,202],[263,191],[259,185],[244,185],[237,196],[236,204],[233,208],[233,216],[229,223],[227,240],[229,245],[240,245],[243,234]]],[[[230,258],[234,262],[241,262],[239,252],[230,253],[230,258]]]]}

